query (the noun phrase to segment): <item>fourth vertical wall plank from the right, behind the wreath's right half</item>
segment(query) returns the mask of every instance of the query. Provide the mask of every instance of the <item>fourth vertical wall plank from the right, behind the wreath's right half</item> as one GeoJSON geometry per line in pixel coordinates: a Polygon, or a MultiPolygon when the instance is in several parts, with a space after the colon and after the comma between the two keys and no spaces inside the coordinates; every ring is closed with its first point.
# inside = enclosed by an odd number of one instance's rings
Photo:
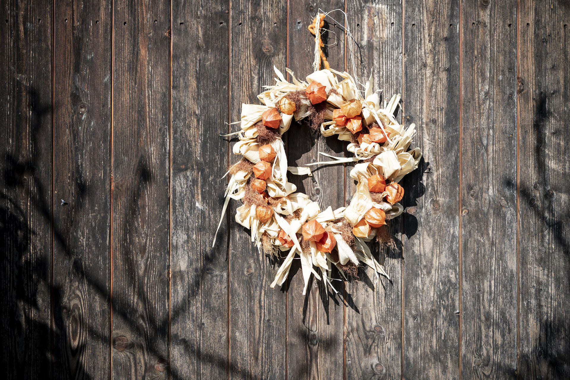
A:
{"type": "MultiPolygon", "coordinates": [[[[348,22],[353,41],[356,75],[365,83],[370,73],[374,90],[381,99],[390,100],[402,91],[402,2],[347,1],[348,22]]],[[[347,71],[353,73],[347,46],[347,71]]],[[[401,120],[401,113],[398,115],[401,120]]],[[[352,153],[349,153],[352,155],[352,153]]],[[[356,189],[347,165],[347,205],[356,189]]],[[[390,234],[400,240],[401,218],[390,221],[390,234]]],[[[345,285],[346,307],[346,377],[400,378],[402,353],[402,260],[401,252],[386,250],[370,243],[384,261],[386,277],[377,280],[372,268],[359,269],[360,281],[345,285]],[[386,258],[386,254],[388,257],[386,258]]],[[[398,246],[398,250],[401,247],[398,246]]]]}

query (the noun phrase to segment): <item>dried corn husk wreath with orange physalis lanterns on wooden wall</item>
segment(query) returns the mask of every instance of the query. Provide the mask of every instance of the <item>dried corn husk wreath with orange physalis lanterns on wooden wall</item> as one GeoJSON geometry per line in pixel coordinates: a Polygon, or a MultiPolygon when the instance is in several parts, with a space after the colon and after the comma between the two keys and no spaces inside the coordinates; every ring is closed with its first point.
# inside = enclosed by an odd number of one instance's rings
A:
{"type": "MultiPolygon", "coordinates": [[[[315,18],[317,36],[319,21],[321,15],[315,18]]],[[[315,53],[318,68],[323,57],[320,51],[315,53]]],[[[421,158],[419,148],[408,150],[416,133],[414,124],[405,128],[394,117],[400,95],[381,108],[377,93],[372,91],[372,76],[361,91],[351,75],[331,68],[316,70],[306,81],[286,69],[291,82],[276,67],[274,70],[276,84],[265,86],[266,91],[258,95],[261,105],[242,105],[241,130],[231,133],[239,136],[233,153],[243,158],[226,173],[230,180],[222,218],[230,198],[241,199],[243,205],[236,210],[235,221],[251,230],[251,241],[258,249],[288,251],[271,287],[283,284],[296,256],[302,265],[303,294],[311,274],[336,292],[331,284],[333,265],[345,276],[347,268],[362,261],[389,278],[367,242],[380,234],[386,220],[402,213],[398,201],[404,189],[398,182],[417,168],[421,158]],[[312,175],[308,167],[288,166],[281,139],[293,120],[306,118],[323,136],[336,134],[339,140],[349,141],[348,150],[354,157],[319,152],[332,161],[307,165],[358,162],[351,170],[357,185],[348,207],[333,210],[329,206],[321,211],[307,194],[296,193],[296,186],[287,181],[287,172],[312,175]]]]}

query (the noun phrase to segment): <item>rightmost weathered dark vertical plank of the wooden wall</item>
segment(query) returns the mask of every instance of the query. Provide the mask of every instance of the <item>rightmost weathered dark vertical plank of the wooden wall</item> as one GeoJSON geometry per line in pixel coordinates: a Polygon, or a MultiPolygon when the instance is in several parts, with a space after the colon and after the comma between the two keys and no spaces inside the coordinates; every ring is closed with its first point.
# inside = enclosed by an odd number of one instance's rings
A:
{"type": "MultiPolygon", "coordinates": [[[[519,378],[570,378],[570,7],[519,7],[519,378]]],[[[513,27],[515,23],[513,23],[513,27]]]]}

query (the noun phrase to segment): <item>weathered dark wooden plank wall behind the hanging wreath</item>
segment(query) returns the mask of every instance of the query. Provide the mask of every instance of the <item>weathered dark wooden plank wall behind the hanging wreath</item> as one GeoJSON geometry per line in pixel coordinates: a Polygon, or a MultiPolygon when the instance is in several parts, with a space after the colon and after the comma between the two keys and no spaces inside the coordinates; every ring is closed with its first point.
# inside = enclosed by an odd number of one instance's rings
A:
{"type": "MultiPolygon", "coordinates": [[[[9,379],[570,377],[564,0],[6,0],[0,252],[9,379]],[[416,123],[392,281],[269,287],[221,179],[273,67],[325,51],[416,123]],[[351,59],[350,47],[354,52],[351,59]]],[[[346,153],[293,126],[288,158],[346,153]]],[[[295,178],[347,205],[350,165],[295,178]]],[[[292,272],[299,271],[298,263],[292,272]]]]}

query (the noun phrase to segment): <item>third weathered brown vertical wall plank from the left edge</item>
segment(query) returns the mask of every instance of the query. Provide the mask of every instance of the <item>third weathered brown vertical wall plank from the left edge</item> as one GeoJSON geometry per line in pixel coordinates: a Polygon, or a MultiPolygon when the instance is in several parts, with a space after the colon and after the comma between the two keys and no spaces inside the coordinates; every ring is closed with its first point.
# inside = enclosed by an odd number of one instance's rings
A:
{"type": "Polygon", "coordinates": [[[112,374],[168,378],[170,3],[113,6],[112,374]]]}

